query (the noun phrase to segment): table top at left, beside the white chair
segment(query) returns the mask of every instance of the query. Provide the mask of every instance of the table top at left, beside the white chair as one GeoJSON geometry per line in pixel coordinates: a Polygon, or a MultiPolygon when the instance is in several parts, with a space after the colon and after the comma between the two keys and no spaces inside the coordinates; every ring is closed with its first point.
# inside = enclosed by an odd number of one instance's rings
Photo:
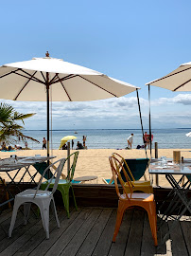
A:
{"type": "Polygon", "coordinates": [[[22,156],[22,157],[18,157],[18,160],[15,163],[10,162],[10,163],[5,163],[5,164],[0,165],[0,172],[9,172],[9,171],[17,170],[19,168],[23,168],[28,165],[33,165],[35,163],[41,163],[46,160],[50,160],[54,157],[56,157],[56,156],[49,156],[49,157],[47,157],[47,156],[26,156],[26,157],[22,156]]]}

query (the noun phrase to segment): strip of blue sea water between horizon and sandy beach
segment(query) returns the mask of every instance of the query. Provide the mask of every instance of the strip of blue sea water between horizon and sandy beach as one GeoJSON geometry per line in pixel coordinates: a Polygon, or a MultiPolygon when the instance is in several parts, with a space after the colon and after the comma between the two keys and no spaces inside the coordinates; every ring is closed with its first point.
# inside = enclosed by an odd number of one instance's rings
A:
{"type": "MultiPolygon", "coordinates": [[[[148,130],[145,130],[148,132],[148,130]]],[[[158,142],[159,148],[191,148],[191,137],[186,137],[185,134],[191,131],[190,129],[153,129],[153,143],[158,142]]],[[[52,148],[59,149],[61,137],[76,136],[74,140],[75,147],[78,140],[82,142],[82,137],[86,136],[86,145],[89,149],[124,149],[127,147],[127,138],[133,133],[132,148],[143,144],[142,131],[137,129],[84,129],[84,130],[55,130],[52,131],[52,148]],[[78,132],[78,134],[75,134],[78,132]]],[[[43,137],[46,137],[46,131],[26,130],[26,136],[34,137],[41,143],[35,143],[27,140],[28,147],[31,149],[42,149],[43,137]]],[[[18,141],[24,146],[24,143],[18,141]]]]}

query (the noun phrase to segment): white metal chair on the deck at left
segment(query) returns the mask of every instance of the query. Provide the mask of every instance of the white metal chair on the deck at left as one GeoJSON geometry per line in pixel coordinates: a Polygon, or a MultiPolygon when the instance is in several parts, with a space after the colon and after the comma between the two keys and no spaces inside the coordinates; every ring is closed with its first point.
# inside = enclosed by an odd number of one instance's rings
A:
{"type": "Polygon", "coordinates": [[[57,216],[57,210],[55,207],[53,193],[56,192],[56,190],[57,190],[58,182],[61,177],[61,172],[62,172],[64,163],[65,163],[65,160],[66,160],[65,158],[61,158],[61,159],[57,160],[56,162],[52,163],[51,165],[49,165],[44,170],[43,175],[41,177],[41,180],[40,180],[39,185],[36,190],[26,190],[24,192],[18,193],[15,196],[14,208],[12,211],[12,217],[11,217],[11,222],[10,222],[10,227],[9,227],[9,237],[11,237],[12,229],[14,228],[17,210],[23,204],[24,204],[24,220],[25,220],[24,224],[26,225],[26,223],[27,223],[31,204],[32,203],[36,204],[39,207],[40,212],[41,212],[42,221],[43,221],[43,229],[45,230],[46,238],[49,239],[49,207],[50,207],[50,203],[52,201],[57,225],[58,225],[58,228],[60,228],[60,222],[59,222],[59,219],[57,216]],[[58,162],[60,162],[59,166],[56,170],[52,171],[52,174],[53,174],[52,178],[49,179],[45,190],[44,191],[39,190],[40,186],[42,184],[44,174],[48,170],[50,170],[50,168],[53,167],[53,165],[55,165],[58,162]],[[55,179],[54,187],[52,189],[52,192],[49,192],[48,188],[49,188],[49,185],[52,182],[53,178],[55,179]]]}

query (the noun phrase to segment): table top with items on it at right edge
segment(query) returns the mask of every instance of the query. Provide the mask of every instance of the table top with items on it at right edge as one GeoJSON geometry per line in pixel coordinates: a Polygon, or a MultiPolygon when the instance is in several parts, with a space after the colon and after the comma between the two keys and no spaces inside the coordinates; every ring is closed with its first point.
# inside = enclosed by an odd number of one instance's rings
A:
{"type": "Polygon", "coordinates": [[[165,166],[161,166],[161,161],[155,161],[149,165],[149,174],[191,174],[191,160],[186,159],[183,163],[175,164],[172,160],[167,160],[165,166]]]}

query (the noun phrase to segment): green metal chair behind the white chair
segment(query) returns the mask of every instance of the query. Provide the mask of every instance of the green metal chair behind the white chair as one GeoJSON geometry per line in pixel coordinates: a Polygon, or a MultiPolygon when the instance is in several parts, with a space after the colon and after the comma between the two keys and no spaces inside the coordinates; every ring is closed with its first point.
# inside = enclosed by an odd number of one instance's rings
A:
{"type": "MultiPolygon", "coordinates": [[[[70,212],[69,212],[69,191],[70,191],[70,188],[72,189],[72,194],[73,194],[76,210],[78,210],[77,202],[76,202],[76,198],[75,198],[75,193],[74,193],[74,190],[72,188],[72,180],[73,180],[73,176],[75,174],[75,169],[76,169],[77,159],[78,159],[78,153],[79,152],[77,151],[77,152],[69,155],[66,158],[66,161],[69,161],[69,163],[70,163],[69,170],[67,171],[66,178],[59,180],[59,184],[58,184],[58,187],[57,187],[57,190],[61,192],[63,205],[64,205],[64,208],[67,212],[68,218],[70,217],[70,212]],[[72,161],[72,157],[73,157],[73,161],[72,161]]],[[[65,164],[65,166],[67,166],[67,164],[65,164]]],[[[52,182],[50,183],[50,185],[49,185],[50,189],[54,187],[54,182],[55,182],[55,179],[53,179],[52,182]]],[[[41,185],[41,190],[44,190],[46,188],[47,183],[48,183],[48,180],[43,182],[43,184],[41,185]]]]}

